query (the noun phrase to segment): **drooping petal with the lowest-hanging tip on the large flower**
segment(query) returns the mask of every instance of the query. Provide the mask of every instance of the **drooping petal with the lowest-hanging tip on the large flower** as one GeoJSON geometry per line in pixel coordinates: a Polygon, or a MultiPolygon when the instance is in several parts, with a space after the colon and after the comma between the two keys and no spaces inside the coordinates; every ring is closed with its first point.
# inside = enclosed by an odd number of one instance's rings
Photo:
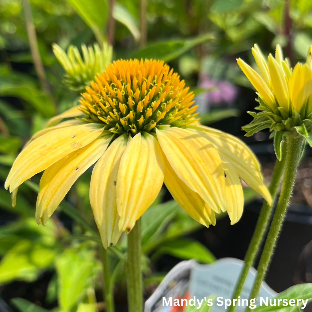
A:
{"type": "Polygon", "coordinates": [[[95,164],[90,182],[90,204],[104,248],[115,245],[121,235],[116,203],[119,163],[127,146],[128,136],[119,136],[95,164]]]}

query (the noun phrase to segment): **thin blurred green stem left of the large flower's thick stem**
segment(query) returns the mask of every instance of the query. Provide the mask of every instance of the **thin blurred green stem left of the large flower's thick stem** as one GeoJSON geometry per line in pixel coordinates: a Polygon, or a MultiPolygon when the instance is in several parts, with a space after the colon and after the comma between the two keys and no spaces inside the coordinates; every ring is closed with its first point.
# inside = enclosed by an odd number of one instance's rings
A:
{"type": "Polygon", "coordinates": [[[114,288],[110,283],[110,266],[107,250],[101,245],[102,263],[103,263],[103,296],[106,303],[106,312],[115,312],[114,306],[114,288]]]}

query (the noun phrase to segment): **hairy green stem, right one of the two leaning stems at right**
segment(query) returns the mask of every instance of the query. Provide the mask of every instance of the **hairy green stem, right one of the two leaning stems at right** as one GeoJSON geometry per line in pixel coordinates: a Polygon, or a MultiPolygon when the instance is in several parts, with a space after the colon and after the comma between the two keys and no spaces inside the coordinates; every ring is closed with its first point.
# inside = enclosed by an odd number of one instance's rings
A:
{"type": "Polygon", "coordinates": [[[266,275],[272,252],[286,214],[291,193],[295,184],[295,175],[302,154],[304,139],[287,137],[287,151],[285,163],[285,175],[280,192],[280,198],[273,216],[271,227],[266,238],[266,243],[257,268],[257,275],[251,289],[250,299],[256,298],[259,294],[261,283],[266,275]]]}

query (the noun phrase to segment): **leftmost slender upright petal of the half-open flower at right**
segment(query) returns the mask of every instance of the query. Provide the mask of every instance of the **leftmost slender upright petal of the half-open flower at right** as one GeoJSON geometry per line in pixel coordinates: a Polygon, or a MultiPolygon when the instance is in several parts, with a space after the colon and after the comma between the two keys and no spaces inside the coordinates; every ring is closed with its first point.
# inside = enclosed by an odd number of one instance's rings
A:
{"type": "Polygon", "coordinates": [[[251,84],[255,87],[255,89],[259,92],[262,99],[269,105],[271,108],[275,109],[275,99],[272,91],[266,85],[261,76],[253,70],[247,63],[245,63],[241,58],[236,59],[237,64],[241,67],[241,70],[246,75],[251,84]]]}

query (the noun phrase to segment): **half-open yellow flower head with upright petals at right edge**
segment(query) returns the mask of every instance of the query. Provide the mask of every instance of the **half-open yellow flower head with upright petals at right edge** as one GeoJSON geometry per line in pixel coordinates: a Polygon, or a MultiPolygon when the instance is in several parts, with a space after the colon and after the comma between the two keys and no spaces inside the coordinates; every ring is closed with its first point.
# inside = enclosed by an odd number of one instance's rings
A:
{"type": "MultiPolygon", "coordinates": [[[[242,127],[246,136],[270,128],[274,136],[275,153],[281,158],[280,144],[285,135],[303,135],[310,144],[309,133],[312,126],[312,46],[305,64],[290,67],[284,59],[279,45],[275,57],[270,53],[267,61],[255,44],[251,49],[260,74],[240,58],[238,65],[258,94],[260,113],[248,112],[254,120],[242,127]]],[[[311,141],[312,142],[312,141],[311,141]]]]}

